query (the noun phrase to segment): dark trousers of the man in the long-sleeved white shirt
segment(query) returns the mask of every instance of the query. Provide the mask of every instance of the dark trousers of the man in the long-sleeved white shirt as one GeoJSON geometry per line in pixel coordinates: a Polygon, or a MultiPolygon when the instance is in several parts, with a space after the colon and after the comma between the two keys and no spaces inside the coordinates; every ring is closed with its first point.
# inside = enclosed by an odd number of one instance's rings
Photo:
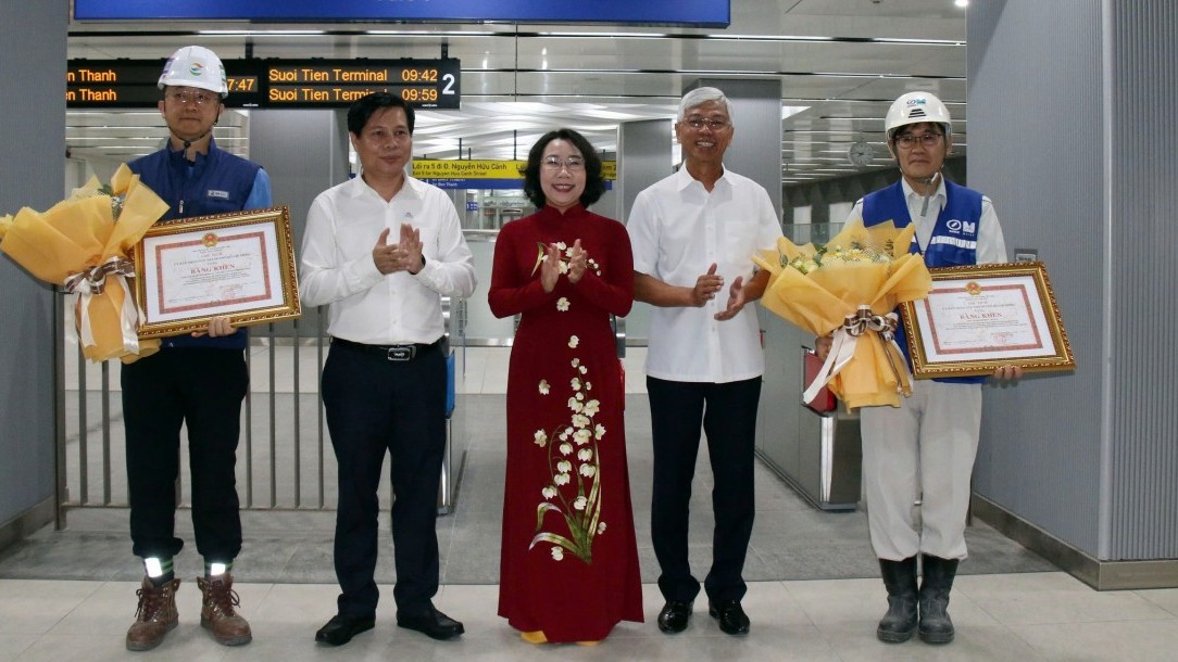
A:
{"type": "Polygon", "coordinates": [[[336,577],[339,614],[372,616],[379,590],[377,489],[391,456],[392,543],[402,615],[429,614],[438,589],[438,483],[445,452],[445,356],[438,346],[410,361],[332,343],[323,403],[339,468],[336,577]]]}

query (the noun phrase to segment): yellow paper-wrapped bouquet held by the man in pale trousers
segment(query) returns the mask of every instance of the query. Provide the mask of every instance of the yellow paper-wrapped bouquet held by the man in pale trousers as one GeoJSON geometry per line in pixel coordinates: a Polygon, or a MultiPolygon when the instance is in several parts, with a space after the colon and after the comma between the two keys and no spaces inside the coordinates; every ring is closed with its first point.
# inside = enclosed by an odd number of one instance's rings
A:
{"type": "Polygon", "coordinates": [[[863,306],[884,317],[899,303],[928,295],[928,268],[920,255],[908,253],[913,233],[911,223],[898,229],[887,221],[865,228],[855,221],[822,248],[782,238],[776,250],[753,256],[770,274],[762,306],[816,336],[833,332],[818,381],[825,381],[847,409],[899,407],[900,396],[912,393],[907,361],[895,342],[874,330],[852,335],[843,322],[863,306]]]}

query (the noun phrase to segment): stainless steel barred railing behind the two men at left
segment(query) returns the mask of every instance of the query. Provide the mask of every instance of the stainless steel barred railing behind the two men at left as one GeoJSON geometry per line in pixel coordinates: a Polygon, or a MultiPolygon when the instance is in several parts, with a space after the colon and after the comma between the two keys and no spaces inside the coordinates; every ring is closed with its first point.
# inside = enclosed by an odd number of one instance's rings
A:
{"type": "MultiPolygon", "coordinates": [[[[451,348],[462,349],[465,302],[456,302],[457,334],[451,348]]],[[[70,508],[126,507],[126,456],[124,453],[123,403],[119,365],[86,361],[73,334],[68,312],[72,297],[62,297],[59,343],[62,354],[58,476],[59,527],[70,508]]],[[[443,302],[446,327],[450,306],[443,302]]],[[[253,327],[246,354],[250,390],[241,414],[237,454],[238,494],[246,509],[332,510],[336,506],[336,472],[326,430],[319,383],[326,348],[325,310],[307,310],[293,322],[253,327]]],[[[448,330],[449,333],[449,330],[448,330]]],[[[461,366],[458,369],[462,369],[461,366]]],[[[190,503],[184,484],[188,475],[186,433],[181,432],[179,503],[190,503]]],[[[451,440],[452,441],[452,440],[451,440]]],[[[386,460],[388,461],[388,460],[386,460]]],[[[452,510],[457,492],[456,462],[461,454],[446,452],[439,511],[452,510]]],[[[390,503],[384,481],[379,494],[390,503]]]]}

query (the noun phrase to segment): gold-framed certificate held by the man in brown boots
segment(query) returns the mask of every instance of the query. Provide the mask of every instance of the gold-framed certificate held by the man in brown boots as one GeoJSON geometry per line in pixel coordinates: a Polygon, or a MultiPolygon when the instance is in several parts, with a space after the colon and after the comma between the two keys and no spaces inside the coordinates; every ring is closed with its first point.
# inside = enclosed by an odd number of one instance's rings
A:
{"type": "Polygon", "coordinates": [[[178,219],[152,226],[135,246],[139,337],[302,314],[286,207],[178,219]]]}

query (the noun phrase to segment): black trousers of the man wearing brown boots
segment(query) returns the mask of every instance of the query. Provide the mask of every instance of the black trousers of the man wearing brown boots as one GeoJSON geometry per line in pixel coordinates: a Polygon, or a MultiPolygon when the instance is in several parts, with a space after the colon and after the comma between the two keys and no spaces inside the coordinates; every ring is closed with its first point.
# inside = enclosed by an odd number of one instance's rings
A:
{"type": "Polygon", "coordinates": [[[214,561],[241,551],[237,442],[250,385],[240,349],[164,348],[123,366],[131,542],[137,556],[176,556],[180,426],[188,429],[197,550],[214,561]]]}

